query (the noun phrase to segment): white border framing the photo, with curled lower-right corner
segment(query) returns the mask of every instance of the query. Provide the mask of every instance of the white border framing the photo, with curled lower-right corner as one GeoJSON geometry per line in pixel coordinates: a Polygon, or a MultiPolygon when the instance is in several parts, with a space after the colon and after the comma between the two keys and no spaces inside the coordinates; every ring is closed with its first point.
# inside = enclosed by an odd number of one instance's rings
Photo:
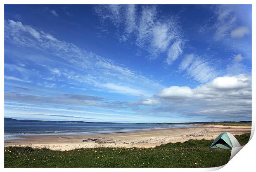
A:
{"type": "MultiPolygon", "coordinates": [[[[2,142],[1,142],[1,146],[2,148],[4,147],[4,4],[252,4],[252,16],[255,15],[255,4],[256,1],[255,0],[93,0],[93,1],[84,1],[84,0],[1,0],[0,1],[0,102],[1,102],[1,108],[0,108],[0,113],[2,114],[2,118],[0,120],[0,126],[1,126],[1,138],[2,138],[2,142]]],[[[255,17],[252,19],[252,47],[255,47],[255,17]]],[[[255,55],[255,51],[254,49],[252,49],[252,57],[254,57],[255,55]]],[[[256,64],[256,60],[255,58],[252,58],[252,134],[251,137],[254,133],[255,130],[255,108],[254,108],[254,101],[255,101],[255,92],[254,92],[254,86],[255,86],[255,80],[254,80],[254,74],[255,74],[255,64],[256,64]]],[[[128,169],[128,168],[108,168],[108,169],[101,169],[101,168],[90,168],[90,169],[86,169],[86,170],[92,170],[92,171],[96,171],[96,172],[102,172],[102,170],[104,171],[112,171],[112,172],[119,172],[120,170],[124,171],[124,172],[128,172],[130,170],[135,170],[135,171],[154,171],[154,170],[161,170],[161,171],[177,171],[177,172],[184,172],[184,171],[194,171],[194,172],[204,172],[204,171],[213,171],[213,170],[218,170],[220,169],[220,171],[251,171],[251,169],[254,169],[254,155],[256,153],[255,151],[255,147],[254,145],[256,145],[256,139],[255,138],[251,138],[251,141],[249,141],[249,143],[244,146],[245,148],[243,148],[237,156],[235,156],[234,158],[232,158],[232,160],[230,160],[230,162],[227,165],[224,165],[225,167],[221,168],[221,167],[215,167],[215,168],[196,168],[196,169],[192,169],[192,168],[162,168],[162,169],[148,169],[148,168],[142,168],[142,169],[128,169]]],[[[4,168],[4,151],[2,149],[1,151],[1,166],[2,169],[4,168]]],[[[45,170],[50,170],[50,171],[70,171],[70,170],[76,170],[76,171],[83,171],[85,169],[83,168],[76,168],[76,169],[70,169],[70,168],[62,168],[62,169],[44,169],[44,168],[37,168],[37,169],[33,169],[33,168],[29,168],[29,169],[11,169],[11,168],[5,168],[3,169],[7,172],[11,172],[13,170],[18,170],[21,172],[32,172],[34,170],[38,170],[38,171],[45,171],[45,170]]]]}

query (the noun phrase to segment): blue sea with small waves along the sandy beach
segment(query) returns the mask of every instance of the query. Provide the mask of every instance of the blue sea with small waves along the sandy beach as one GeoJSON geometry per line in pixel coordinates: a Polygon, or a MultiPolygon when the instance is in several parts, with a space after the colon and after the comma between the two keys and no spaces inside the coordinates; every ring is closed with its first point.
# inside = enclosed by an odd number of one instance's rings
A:
{"type": "Polygon", "coordinates": [[[5,140],[28,135],[107,134],[134,132],[157,128],[194,127],[193,125],[132,124],[132,123],[47,123],[5,121],[5,140]]]}

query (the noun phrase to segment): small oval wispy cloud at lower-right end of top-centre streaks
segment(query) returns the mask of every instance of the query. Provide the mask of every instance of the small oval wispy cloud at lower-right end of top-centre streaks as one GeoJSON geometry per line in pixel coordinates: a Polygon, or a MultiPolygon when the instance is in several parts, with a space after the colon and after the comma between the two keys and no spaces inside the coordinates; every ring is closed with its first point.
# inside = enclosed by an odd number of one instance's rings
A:
{"type": "Polygon", "coordinates": [[[170,49],[168,50],[166,63],[171,65],[173,61],[175,61],[180,54],[182,54],[183,50],[181,49],[182,42],[181,40],[175,41],[173,45],[171,45],[170,49]]]}

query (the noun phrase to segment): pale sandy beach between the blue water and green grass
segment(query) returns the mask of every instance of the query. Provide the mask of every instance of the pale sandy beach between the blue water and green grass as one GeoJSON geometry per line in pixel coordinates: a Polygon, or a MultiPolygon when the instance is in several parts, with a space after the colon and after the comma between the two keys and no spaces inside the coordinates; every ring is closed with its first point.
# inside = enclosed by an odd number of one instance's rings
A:
{"type": "Polygon", "coordinates": [[[189,139],[215,139],[221,132],[239,135],[251,132],[251,127],[197,125],[191,128],[142,130],[115,134],[26,136],[25,139],[5,140],[5,146],[45,147],[61,151],[100,146],[149,148],[170,142],[184,142],[189,139]],[[84,139],[89,138],[97,139],[97,141],[83,142],[84,139]]]}

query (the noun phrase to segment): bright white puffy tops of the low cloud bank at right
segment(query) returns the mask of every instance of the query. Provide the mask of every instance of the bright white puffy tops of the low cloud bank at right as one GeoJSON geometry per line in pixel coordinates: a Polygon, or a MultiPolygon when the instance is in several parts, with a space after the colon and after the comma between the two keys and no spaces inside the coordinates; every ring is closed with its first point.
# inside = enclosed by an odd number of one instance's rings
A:
{"type": "Polygon", "coordinates": [[[162,99],[232,99],[232,96],[250,97],[250,94],[248,94],[250,90],[251,75],[235,75],[214,78],[210,82],[194,89],[171,86],[164,88],[156,96],[162,99]],[[241,94],[242,92],[243,94],[241,94]],[[245,94],[245,92],[247,93],[245,94]]]}

